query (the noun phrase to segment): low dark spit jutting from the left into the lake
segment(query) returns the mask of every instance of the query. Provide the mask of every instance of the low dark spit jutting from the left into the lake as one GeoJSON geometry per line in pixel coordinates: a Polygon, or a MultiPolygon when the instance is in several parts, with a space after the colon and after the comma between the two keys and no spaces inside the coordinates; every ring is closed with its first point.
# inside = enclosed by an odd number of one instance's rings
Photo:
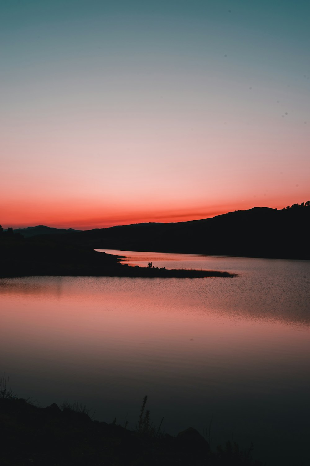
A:
{"type": "Polygon", "coordinates": [[[8,236],[5,233],[0,234],[0,258],[0,277],[33,275],[146,278],[235,276],[218,271],[130,267],[120,264],[119,257],[96,252],[91,247],[75,246],[63,240],[59,242],[43,236],[25,239],[18,234],[8,236]]]}

